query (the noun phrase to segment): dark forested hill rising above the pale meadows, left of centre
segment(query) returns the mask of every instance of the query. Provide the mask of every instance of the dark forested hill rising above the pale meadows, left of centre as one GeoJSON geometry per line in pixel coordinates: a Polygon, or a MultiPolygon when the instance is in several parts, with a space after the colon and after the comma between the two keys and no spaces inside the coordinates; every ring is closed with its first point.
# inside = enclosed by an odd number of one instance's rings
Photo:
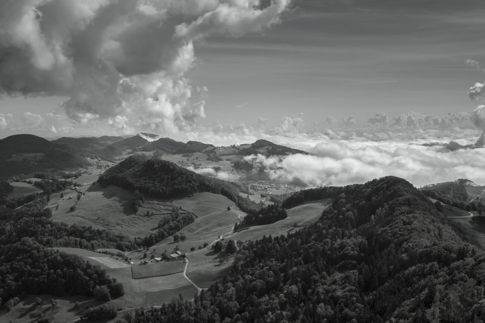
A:
{"type": "Polygon", "coordinates": [[[240,192],[248,193],[247,187],[243,185],[200,175],[169,161],[148,160],[141,155],[133,155],[107,169],[98,182],[103,187],[118,185],[161,199],[211,192],[224,195],[245,212],[259,209],[253,201],[239,195],[240,192]]]}

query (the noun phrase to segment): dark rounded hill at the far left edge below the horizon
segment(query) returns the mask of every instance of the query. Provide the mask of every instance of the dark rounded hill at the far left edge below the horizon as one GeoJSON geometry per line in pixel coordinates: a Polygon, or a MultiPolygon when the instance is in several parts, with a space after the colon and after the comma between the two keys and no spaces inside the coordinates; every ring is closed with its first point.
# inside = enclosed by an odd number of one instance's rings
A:
{"type": "Polygon", "coordinates": [[[0,179],[45,169],[88,166],[83,153],[34,135],[14,135],[0,140],[0,179]]]}

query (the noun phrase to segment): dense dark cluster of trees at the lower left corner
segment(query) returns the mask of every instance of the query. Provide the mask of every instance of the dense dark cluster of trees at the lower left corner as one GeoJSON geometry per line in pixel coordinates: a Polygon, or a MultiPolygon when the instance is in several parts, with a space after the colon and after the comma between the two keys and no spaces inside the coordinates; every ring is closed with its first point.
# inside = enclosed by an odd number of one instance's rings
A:
{"type": "Polygon", "coordinates": [[[106,286],[109,297],[124,294],[123,285],[99,266],[28,237],[16,243],[2,243],[0,273],[1,303],[28,293],[93,296],[99,286],[106,286]]]}

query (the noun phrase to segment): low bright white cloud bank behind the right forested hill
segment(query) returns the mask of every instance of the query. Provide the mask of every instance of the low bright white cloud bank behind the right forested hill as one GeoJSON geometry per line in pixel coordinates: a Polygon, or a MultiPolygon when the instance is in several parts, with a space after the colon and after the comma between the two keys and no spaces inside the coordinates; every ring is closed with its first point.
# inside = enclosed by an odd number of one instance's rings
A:
{"type": "Polygon", "coordinates": [[[405,142],[325,141],[307,151],[315,155],[248,156],[264,165],[271,179],[309,186],[348,185],[394,175],[415,186],[468,178],[485,184],[485,148],[440,152],[405,142]]]}

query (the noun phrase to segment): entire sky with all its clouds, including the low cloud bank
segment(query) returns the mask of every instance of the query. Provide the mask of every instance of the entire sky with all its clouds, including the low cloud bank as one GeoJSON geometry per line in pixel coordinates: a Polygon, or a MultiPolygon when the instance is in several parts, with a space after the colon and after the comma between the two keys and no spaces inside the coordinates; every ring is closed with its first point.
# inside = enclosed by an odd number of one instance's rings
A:
{"type": "Polygon", "coordinates": [[[484,14],[478,0],[2,1],[0,138],[265,138],[314,154],[253,156],[275,178],[485,184],[484,14]]]}

